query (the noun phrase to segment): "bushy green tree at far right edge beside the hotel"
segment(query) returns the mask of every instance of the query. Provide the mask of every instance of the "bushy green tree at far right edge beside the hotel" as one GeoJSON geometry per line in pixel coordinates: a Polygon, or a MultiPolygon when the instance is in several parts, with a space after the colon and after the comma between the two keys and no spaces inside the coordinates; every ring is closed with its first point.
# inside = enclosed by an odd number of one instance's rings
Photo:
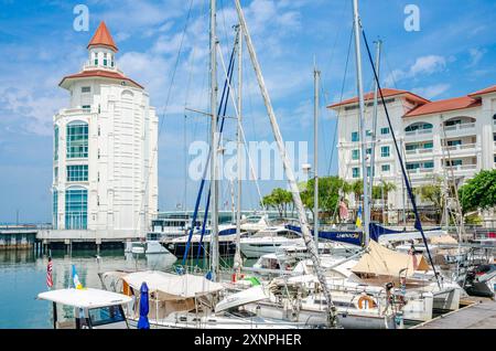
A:
{"type": "Polygon", "coordinates": [[[496,206],[496,170],[484,170],[459,190],[464,213],[496,206]]]}

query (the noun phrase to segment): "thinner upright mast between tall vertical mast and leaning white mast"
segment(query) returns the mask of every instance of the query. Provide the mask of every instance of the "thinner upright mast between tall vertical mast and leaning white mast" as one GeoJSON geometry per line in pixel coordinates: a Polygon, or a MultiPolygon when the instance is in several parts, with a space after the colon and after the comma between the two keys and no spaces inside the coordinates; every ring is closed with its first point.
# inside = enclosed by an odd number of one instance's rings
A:
{"type": "Polygon", "coordinates": [[[242,162],[242,136],[241,136],[241,123],[242,123],[242,115],[241,115],[241,107],[242,107],[242,34],[241,34],[241,24],[238,24],[237,28],[237,34],[238,38],[238,130],[237,130],[237,141],[238,141],[238,196],[237,196],[237,213],[236,213],[236,253],[235,253],[235,268],[236,272],[239,273],[241,268],[241,253],[239,247],[239,241],[241,237],[241,179],[242,179],[242,170],[245,163],[242,162]]]}

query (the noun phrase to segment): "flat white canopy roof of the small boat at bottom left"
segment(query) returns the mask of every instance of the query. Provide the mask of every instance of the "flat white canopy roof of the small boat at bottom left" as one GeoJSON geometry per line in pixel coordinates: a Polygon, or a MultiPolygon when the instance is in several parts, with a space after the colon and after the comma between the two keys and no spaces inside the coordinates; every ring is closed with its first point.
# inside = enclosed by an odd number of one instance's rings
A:
{"type": "Polygon", "coordinates": [[[129,296],[100,289],[60,289],[41,292],[39,299],[78,308],[98,308],[132,301],[129,296]]]}

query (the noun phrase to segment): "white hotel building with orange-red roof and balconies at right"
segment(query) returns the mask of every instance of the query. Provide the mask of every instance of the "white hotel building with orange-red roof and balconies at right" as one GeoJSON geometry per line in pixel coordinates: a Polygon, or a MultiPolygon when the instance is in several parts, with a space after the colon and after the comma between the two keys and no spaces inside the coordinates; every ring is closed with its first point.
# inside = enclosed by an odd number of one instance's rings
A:
{"type": "MultiPolygon", "coordinates": [[[[467,96],[430,102],[406,91],[382,89],[395,136],[413,188],[454,176],[457,184],[496,163],[496,86],[467,96]],[[452,173],[453,171],[453,173],[452,173]]],[[[367,173],[370,174],[373,94],[366,94],[367,173]]],[[[379,96],[380,102],[380,96],[379,96]]],[[[338,116],[338,176],[363,180],[358,99],[331,105],[338,116]]],[[[374,183],[391,182],[388,209],[408,202],[405,182],[384,106],[379,104],[374,183]],[[403,202],[405,201],[405,202],[403,202]]],[[[349,196],[354,208],[354,196],[349,196]]],[[[408,206],[408,204],[406,204],[408,206]]]]}

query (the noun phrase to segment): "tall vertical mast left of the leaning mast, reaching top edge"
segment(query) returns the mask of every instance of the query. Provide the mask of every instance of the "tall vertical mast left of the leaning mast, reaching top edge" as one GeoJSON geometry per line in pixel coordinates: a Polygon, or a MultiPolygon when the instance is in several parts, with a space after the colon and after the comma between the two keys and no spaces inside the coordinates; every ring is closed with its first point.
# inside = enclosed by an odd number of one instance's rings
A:
{"type": "Polygon", "coordinates": [[[211,257],[212,280],[218,281],[218,132],[217,132],[217,35],[216,35],[216,0],[211,0],[211,113],[212,113],[212,232],[211,257]]]}

